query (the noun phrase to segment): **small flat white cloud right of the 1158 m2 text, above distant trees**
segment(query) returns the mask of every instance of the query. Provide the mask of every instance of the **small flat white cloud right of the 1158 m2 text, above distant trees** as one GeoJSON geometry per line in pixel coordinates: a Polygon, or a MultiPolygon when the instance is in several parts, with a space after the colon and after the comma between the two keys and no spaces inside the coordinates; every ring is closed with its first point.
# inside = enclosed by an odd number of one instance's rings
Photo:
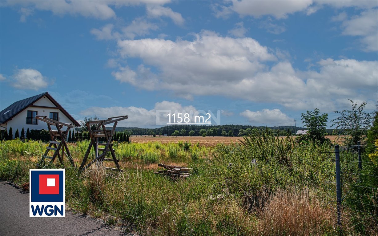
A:
{"type": "Polygon", "coordinates": [[[293,119],[282,113],[279,109],[263,109],[261,111],[245,110],[240,113],[240,116],[244,116],[249,122],[259,125],[291,125],[293,119]]]}

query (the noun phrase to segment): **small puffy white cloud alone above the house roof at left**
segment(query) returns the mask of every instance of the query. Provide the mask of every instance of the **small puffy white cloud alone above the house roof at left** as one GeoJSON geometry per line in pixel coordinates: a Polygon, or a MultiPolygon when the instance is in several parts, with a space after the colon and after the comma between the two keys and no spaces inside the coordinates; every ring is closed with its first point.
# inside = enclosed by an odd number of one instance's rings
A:
{"type": "Polygon", "coordinates": [[[19,69],[13,75],[11,85],[19,89],[39,90],[47,87],[48,80],[36,69],[19,69]]]}

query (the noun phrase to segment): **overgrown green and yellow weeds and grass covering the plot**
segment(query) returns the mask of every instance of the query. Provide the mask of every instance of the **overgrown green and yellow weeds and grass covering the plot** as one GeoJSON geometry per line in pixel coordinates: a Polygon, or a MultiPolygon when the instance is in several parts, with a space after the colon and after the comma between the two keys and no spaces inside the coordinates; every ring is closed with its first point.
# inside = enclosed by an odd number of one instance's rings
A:
{"type": "MultiPolygon", "coordinates": [[[[79,164],[88,141],[68,145],[79,164]]],[[[45,147],[2,141],[0,178],[27,183],[45,147]]],[[[113,147],[123,172],[96,165],[81,175],[77,168],[66,170],[66,204],[73,211],[108,224],[128,222],[129,230],[147,235],[339,235],[329,204],[335,200],[328,190],[334,188],[335,169],[327,142],[301,145],[266,129],[215,147],[189,142],[113,147]],[[158,162],[192,168],[191,176],[172,180],[153,174],[158,162]]],[[[378,233],[369,217],[359,217],[356,227],[353,210],[345,209],[344,235],[378,233]]]]}

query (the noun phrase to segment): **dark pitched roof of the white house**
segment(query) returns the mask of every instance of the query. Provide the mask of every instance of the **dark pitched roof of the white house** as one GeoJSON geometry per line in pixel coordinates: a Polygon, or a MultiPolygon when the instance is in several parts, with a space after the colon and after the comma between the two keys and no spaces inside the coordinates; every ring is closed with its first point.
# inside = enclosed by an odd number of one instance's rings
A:
{"type": "Polygon", "coordinates": [[[34,102],[38,101],[43,96],[46,96],[48,99],[50,99],[50,101],[54,103],[54,105],[57,106],[57,108],[74,123],[74,125],[80,126],[80,124],[75,119],[73,119],[73,117],[66,110],[64,110],[64,108],[60,106],[60,104],[47,92],[14,102],[12,105],[0,111],[0,124],[8,122],[10,119],[17,116],[17,114],[19,114],[21,111],[28,108],[28,106],[33,105],[34,102]]]}

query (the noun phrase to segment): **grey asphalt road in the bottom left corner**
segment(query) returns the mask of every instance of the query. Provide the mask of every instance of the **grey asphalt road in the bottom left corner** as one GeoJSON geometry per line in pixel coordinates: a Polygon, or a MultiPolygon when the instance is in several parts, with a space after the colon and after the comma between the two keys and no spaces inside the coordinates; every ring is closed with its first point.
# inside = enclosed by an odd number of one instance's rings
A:
{"type": "Polygon", "coordinates": [[[0,236],[119,236],[121,231],[66,210],[65,217],[29,217],[29,193],[0,182],[0,236]]]}

